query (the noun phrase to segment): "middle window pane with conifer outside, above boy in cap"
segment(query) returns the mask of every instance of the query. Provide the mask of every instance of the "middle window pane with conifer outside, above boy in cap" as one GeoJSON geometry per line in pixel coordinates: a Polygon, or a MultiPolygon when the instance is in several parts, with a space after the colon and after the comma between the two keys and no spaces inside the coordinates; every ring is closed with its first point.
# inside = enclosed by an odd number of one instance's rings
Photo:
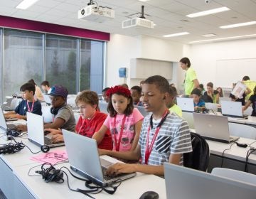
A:
{"type": "Polygon", "coordinates": [[[63,85],[69,94],[77,93],[77,39],[46,35],[46,80],[63,85]]]}

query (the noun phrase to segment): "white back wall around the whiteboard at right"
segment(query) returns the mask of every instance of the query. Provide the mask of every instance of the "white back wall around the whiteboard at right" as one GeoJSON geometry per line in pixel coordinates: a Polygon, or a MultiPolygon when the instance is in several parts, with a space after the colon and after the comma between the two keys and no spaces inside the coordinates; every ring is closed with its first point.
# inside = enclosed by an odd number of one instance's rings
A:
{"type": "MultiPolygon", "coordinates": [[[[216,63],[218,60],[235,60],[235,59],[251,59],[256,58],[256,38],[248,38],[242,40],[223,41],[216,43],[195,44],[190,46],[191,66],[195,68],[200,83],[205,85],[207,82],[215,84],[216,78],[220,76],[216,74],[216,63]]],[[[227,70],[223,67],[223,74],[240,73],[232,82],[242,80],[242,77],[250,74],[243,74],[242,68],[234,68],[227,70]]],[[[251,74],[255,74],[255,66],[252,66],[251,74]]],[[[251,75],[252,76],[252,75],[251,75]]],[[[251,77],[252,79],[252,77],[251,77]]],[[[231,81],[231,80],[230,80],[231,81]]],[[[218,81],[217,81],[218,82],[218,81]]],[[[225,87],[225,85],[214,85],[214,87],[225,87]]],[[[230,85],[231,87],[231,85],[230,85]]]]}

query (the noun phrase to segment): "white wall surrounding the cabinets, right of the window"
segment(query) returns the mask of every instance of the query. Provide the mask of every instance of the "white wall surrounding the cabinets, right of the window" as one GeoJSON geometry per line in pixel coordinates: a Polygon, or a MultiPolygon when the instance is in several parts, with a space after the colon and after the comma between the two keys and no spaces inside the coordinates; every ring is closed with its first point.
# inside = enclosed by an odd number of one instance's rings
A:
{"type": "MultiPolygon", "coordinates": [[[[129,37],[112,34],[107,43],[107,67],[105,86],[119,85],[126,82],[129,87],[139,85],[139,80],[131,80],[129,77],[129,60],[131,58],[145,58],[151,60],[165,60],[178,62],[184,51],[184,45],[160,38],[149,36],[129,37]],[[128,68],[127,78],[118,77],[118,69],[128,68]]],[[[174,65],[174,79],[171,82],[178,84],[178,76],[181,75],[178,65],[174,65]],[[178,73],[179,72],[179,73],[178,73]],[[178,75],[179,74],[179,75],[178,75]]],[[[183,81],[183,80],[182,80],[183,81]]]]}

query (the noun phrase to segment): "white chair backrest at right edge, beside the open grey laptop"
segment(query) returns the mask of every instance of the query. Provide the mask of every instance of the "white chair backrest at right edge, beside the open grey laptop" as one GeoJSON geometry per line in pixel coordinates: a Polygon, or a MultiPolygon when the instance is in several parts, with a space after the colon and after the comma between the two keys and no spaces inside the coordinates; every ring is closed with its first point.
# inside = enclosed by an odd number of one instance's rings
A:
{"type": "Polygon", "coordinates": [[[256,139],[256,128],[245,124],[228,123],[230,135],[256,139]]]}

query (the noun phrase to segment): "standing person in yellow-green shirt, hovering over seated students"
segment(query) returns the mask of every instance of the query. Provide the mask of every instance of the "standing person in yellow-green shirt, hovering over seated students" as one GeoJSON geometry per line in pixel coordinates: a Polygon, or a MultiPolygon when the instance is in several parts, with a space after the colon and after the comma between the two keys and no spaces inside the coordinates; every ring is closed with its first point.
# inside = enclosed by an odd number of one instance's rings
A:
{"type": "Polygon", "coordinates": [[[191,62],[188,58],[182,58],[180,60],[181,68],[186,70],[185,80],[184,80],[184,90],[185,95],[188,97],[194,88],[199,86],[198,79],[196,77],[196,72],[191,68],[191,62]]]}

